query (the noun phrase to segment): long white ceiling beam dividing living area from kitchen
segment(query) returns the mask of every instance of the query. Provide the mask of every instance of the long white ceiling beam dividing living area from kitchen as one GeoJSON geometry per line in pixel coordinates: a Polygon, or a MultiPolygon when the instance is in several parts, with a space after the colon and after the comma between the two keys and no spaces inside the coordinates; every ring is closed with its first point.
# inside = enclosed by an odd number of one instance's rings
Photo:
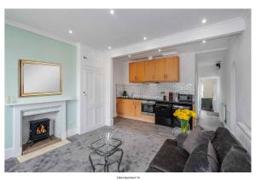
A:
{"type": "Polygon", "coordinates": [[[139,42],[123,48],[115,48],[111,51],[111,56],[112,58],[119,58],[126,54],[143,53],[151,49],[177,46],[188,42],[198,42],[216,37],[226,37],[239,34],[241,31],[244,31],[245,28],[245,20],[242,18],[225,20],[193,30],[148,40],[147,42],[139,42]]]}

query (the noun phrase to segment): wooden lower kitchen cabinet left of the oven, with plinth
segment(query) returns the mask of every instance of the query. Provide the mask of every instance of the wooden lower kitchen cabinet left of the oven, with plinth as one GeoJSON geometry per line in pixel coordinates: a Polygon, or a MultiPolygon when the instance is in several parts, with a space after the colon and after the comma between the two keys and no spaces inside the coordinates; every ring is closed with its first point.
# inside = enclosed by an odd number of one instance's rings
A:
{"type": "Polygon", "coordinates": [[[142,115],[142,101],[129,98],[117,98],[116,110],[119,117],[154,123],[154,116],[142,115]]]}

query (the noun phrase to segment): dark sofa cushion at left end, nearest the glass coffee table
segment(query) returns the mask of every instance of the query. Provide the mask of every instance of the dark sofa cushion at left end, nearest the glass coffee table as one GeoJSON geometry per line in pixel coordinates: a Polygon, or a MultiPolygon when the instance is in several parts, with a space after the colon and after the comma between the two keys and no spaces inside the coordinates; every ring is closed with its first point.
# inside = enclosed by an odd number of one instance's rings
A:
{"type": "Polygon", "coordinates": [[[160,172],[183,172],[189,154],[184,149],[178,148],[177,142],[176,145],[173,142],[176,141],[166,140],[151,161],[148,171],[154,168],[160,172]]]}

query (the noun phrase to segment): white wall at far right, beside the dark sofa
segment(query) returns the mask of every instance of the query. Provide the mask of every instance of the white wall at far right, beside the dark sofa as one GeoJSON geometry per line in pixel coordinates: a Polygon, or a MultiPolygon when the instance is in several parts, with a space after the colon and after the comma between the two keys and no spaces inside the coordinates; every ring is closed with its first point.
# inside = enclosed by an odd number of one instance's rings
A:
{"type": "MultiPolygon", "coordinates": [[[[227,105],[227,119],[230,124],[237,122],[251,127],[251,14],[245,16],[246,30],[230,42],[224,63],[220,70],[221,102],[227,105]],[[232,66],[236,65],[236,89],[231,88],[232,66]],[[235,91],[234,91],[235,90],[235,91]],[[235,97],[231,94],[236,92],[235,97]],[[234,98],[236,100],[234,101],[234,98]],[[231,103],[236,102],[235,111],[231,110],[231,103]],[[235,115],[235,118],[231,118],[235,115]]],[[[230,127],[236,136],[236,126],[230,127]]],[[[241,127],[241,126],[240,126],[241,127]]]]}

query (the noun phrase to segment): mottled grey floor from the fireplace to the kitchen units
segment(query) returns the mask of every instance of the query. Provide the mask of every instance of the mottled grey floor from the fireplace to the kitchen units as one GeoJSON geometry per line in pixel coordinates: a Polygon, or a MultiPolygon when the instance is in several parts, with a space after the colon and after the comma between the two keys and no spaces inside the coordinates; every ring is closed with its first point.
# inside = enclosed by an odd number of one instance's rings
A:
{"type": "MultiPolygon", "coordinates": [[[[172,138],[172,128],[154,125],[148,122],[116,118],[111,128],[113,137],[123,141],[124,150],[120,169],[125,172],[145,172],[150,161],[167,138],[172,138]]],[[[19,163],[15,159],[5,161],[5,172],[91,172],[88,145],[107,132],[109,127],[75,135],[68,138],[71,143],[39,155],[31,160],[19,163]]],[[[113,155],[111,160],[119,158],[113,155]]],[[[102,157],[93,156],[95,163],[102,162],[102,157]]],[[[109,172],[118,172],[117,163],[109,167],[109,172]]],[[[102,166],[96,166],[96,172],[103,172],[102,166]]]]}

